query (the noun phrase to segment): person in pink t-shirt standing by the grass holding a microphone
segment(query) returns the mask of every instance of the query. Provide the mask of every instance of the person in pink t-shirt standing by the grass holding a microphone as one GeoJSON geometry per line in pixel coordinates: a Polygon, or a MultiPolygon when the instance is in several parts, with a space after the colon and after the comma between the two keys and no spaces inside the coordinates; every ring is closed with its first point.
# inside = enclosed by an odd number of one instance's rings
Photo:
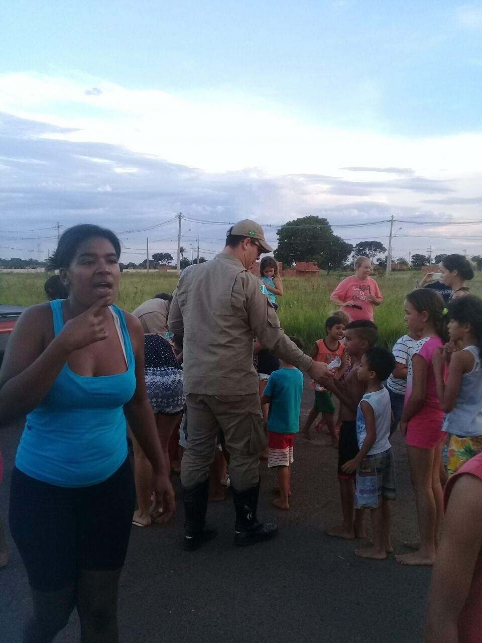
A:
{"type": "Polygon", "coordinates": [[[383,301],[379,285],[370,276],[371,261],[368,257],[357,257],[355,275],[340,282],[332,292],[330,302],[337,306],[350,307],[352,321],[373,321],[373,306],[383,301]]]}

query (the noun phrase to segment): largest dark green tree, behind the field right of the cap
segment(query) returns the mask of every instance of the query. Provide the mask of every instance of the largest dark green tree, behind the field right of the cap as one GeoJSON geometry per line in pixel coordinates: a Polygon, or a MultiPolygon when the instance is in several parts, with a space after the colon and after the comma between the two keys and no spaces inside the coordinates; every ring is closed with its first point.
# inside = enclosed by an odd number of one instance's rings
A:
{"type": "Polygon", "coordinates": [[[353,246],[334,235],[328,219],[300,217],[288,221],[276,232],[278,248],[274,258],[284,266],[295,261],[313,261],[328,271],[341,266],[352,252],[353,246]]]}

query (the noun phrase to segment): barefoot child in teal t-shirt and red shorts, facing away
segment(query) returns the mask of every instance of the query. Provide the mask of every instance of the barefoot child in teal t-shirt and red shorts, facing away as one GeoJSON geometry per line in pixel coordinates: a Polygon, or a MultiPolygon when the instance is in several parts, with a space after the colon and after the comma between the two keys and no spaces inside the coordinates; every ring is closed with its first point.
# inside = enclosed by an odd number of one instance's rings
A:
{"type": "MultiPolygon", "coordinates": [[[[303,343],[290,337],[299,349],[303,343]]],[[[269,404],[268,413],[268,467],[277,467],[280,497],[273,500],[278,509],[289,509],[291,495],[291,464],[293,462],[294,435],[298,433],[303,375],[298,368],[281,361],[280,368],[272,372],[263,393],[262,404],[269,404]]]]}

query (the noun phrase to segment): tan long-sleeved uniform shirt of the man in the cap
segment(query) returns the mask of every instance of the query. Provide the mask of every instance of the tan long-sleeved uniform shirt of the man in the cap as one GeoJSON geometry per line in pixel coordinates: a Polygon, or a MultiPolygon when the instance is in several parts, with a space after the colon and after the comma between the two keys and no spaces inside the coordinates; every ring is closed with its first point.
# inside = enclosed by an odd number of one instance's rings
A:
{"type": "Polygon", "coordinates": [[[258,392],[253,337],[296,367],[308,370],[312,365],[312,359],[281,330],[260,280],[228,254],[181,275],[170,307],[169,330],[184,331],[186,394],[258,392]]]}

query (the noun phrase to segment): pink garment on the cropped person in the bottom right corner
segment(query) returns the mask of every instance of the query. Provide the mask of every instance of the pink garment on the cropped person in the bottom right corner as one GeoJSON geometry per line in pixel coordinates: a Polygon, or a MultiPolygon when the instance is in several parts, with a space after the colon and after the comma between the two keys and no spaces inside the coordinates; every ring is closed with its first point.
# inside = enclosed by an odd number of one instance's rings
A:
{"type": "MultiPolygon", "coordinates": [[[[482,453],[474,456],[451,476],[445,485],[443,502],[445,509],[457,478],[464,473],[469,473],[482,480],[482,453]]],[[[470,516],[467,516],[470,520],[470,516]]],[[[472,576],[469,595],[462,608],[458,619],[459,643],[480,643],[482,632],[482,556],[479,557],[472,576]]]]}

